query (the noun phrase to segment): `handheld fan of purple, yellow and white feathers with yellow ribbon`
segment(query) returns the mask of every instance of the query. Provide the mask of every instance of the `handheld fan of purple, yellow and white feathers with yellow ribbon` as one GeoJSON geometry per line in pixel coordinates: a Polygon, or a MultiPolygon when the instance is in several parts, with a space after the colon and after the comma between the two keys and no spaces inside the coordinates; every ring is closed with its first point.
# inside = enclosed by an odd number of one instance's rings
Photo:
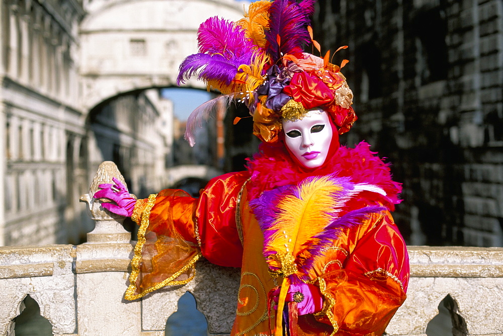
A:
{"type": "MultiPolygon", "coordinates": [[[[385,208],[368,206],[343,213],[351,197],[362,191],[385,195],[378,186],[354,184],[349,178],[310,177],[298,186],[265,191],[250,201],[264,233],[263,254],[273,276],[283,277],[278,312],[292,283],[315,279],[313,263],[338,238],[339,233],[385,208]]],[[[276,315],[281,335],[282,315],[276,315]]],[[[278,331],[279,330],[279,331],[278,331]]]]}

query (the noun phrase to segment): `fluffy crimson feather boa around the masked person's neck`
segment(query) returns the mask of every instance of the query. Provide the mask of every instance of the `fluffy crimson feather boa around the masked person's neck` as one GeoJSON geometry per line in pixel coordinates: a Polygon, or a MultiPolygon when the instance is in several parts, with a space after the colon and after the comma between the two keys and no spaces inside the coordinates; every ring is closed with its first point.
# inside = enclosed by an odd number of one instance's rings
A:
{"type": "Polygon", "coordinates": [[[400,203],[398,194],[401,184],[391,179],[389,163],[370,150],[370,145],[360,142],[355,148],[341,146],[337,152],[327,158],[323,166],[315,171],[305,171],[294,162],[284,145],[262,143],[259,152],[248,162],[247,170],[251,175],[248,193],[251,199],[258,198],[266,190],[298,184],[312,176],[334,175],[348,177],[355,184],[376,185],[386,192],[386,196],[375,192],[361,192],[348,202],[351,209],[381,203],[389,211],[400,203]]]}

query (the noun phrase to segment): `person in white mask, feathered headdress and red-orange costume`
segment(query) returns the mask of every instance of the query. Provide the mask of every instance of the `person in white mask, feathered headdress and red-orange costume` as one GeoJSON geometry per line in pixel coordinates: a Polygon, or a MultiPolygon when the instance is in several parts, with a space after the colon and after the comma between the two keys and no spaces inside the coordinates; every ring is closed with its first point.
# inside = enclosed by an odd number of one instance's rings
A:
{"type": "MultiPolygon", "coordinates": [[[[234,23],[210,18],[179,83],[198,73],[243,101],[263,143],[246,170],[195,199],[163,190],[134,200],[115,184],[95,198],[140,225],[126,299],[194,277],[204,256],[241,268],[232,335],[381,335],[405,300],[407,250],[389,213],[401,187],[365,142],[340,146],[356,116],[340,66],[302,51],[313,0],[252,3],[234,23]]],[[[343,64],[344,65],[344,64],[343,64]]]]}

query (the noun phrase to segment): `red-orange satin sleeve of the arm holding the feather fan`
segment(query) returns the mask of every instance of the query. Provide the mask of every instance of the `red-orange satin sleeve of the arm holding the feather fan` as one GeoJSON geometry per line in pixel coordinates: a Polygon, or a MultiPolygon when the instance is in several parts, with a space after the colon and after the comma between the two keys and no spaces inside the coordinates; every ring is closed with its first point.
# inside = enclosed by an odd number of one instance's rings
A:
{"type": "Polygon", "coordinates": [[[337,269],[327,261],[318,278],[325,310],[318,321],[336,335],[380,336],[405,300],[408,255],[389,212],[374,214],[349,233],[349,255],[337,269]]]}

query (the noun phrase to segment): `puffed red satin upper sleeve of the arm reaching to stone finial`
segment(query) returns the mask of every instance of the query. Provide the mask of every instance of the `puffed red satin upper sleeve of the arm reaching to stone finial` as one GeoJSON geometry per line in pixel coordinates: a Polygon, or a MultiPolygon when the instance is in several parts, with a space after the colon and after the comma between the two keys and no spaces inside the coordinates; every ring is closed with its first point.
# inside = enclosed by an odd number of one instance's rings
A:
{"type": "Polygon", "coordinates": [[[236,208],[248,178],[248,172],[225,174],[211,180],[201,193],[196,210],[201,250],[213,264],[241,267],[243,245],[236,208]]]}

